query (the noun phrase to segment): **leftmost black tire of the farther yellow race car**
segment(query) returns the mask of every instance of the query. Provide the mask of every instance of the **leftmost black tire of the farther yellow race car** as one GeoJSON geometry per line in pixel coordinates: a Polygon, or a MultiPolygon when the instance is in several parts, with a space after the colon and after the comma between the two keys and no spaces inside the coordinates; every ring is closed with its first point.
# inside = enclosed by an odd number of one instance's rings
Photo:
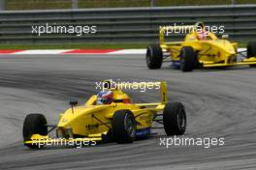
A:
{"type": "Polygon", "coordinates": [[[159,45],[150,45],[146,49],[145,61],[148,69],[161,69],[163,63],[163,51],[159,45]]]}

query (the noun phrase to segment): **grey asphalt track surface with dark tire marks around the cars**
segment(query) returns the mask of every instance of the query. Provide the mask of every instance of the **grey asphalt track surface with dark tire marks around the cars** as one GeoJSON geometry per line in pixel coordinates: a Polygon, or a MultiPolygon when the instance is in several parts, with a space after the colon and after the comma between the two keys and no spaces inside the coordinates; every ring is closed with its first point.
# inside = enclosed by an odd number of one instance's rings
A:
{"type": "MultiPolygon", "coordinates": [[[[236,67],[183,73],[164,64],[149,71],[143,55],[0,56],[0,169],[256,169],[256,69],[236,67]],[[53,148],[22,145],[28,113],[44,113],[49,124],[69,100],[96,93],[95,81],[168,82],[169,99],[187,111],[184,137],[224,137],[224,146],[160,146],[164,130],[133,144],[53,148]]],[[[159,94],[132,92],[134,100],[159,94]]]]}

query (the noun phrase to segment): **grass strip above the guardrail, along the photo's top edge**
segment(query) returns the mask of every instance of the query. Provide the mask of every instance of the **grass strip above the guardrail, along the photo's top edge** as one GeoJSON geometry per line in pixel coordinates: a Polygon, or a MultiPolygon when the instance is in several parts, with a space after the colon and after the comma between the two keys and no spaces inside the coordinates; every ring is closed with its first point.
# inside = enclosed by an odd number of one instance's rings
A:
{"type": "MultiPolygon", "coordinates": [[[[155,6],[224,5],[232,0],[155,0],[155,6]]],[[[237,4],[256,4],[256,0],[237,0],[237,4]]],[[[150,0],[79,0],[79,8],[149,7],[150,0]]],[[[6,0],[7,10],[70,9],[72,0],[6,0]]]]}

